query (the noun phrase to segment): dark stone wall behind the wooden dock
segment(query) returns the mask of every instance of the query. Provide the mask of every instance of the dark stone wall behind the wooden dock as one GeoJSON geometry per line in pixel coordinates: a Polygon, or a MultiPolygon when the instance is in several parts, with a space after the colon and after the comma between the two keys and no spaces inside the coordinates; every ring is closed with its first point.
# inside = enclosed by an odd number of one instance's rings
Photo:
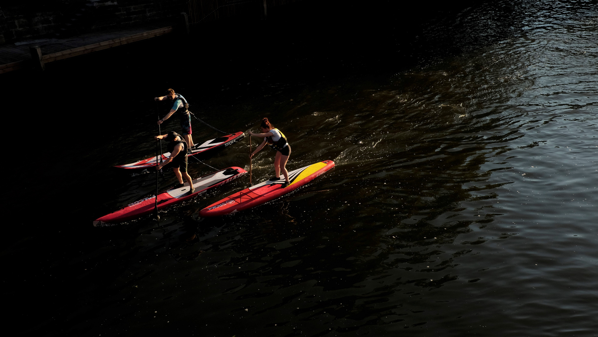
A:
{"type": "Polygon", "coordinates": [[[0,44],[175,19],[187,0],[25,0],[0,7],[0,44]]]}

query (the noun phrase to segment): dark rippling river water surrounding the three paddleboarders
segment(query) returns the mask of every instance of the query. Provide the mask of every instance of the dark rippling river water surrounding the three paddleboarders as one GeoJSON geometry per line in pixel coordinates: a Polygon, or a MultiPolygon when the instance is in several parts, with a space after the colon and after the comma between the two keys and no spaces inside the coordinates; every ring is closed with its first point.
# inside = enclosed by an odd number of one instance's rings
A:
{"type": "MultiPolygon", "coordinates": [[[[2,78],[39,107],[30,136],[47,163],[11,178],[5,318],[38,336],[596,336],[596,2],[407,23],[388,4],[331,22],[327,10],[310,29],[301,15],[216,27],[183,56],[163,38],[2,78]],[[197,212],[245,178],[159,227],[92,228],[155,188],[154,174],[110,166],[154,153],[149,99],[166,87],[225,131],[269,117],[292,145],[288,169],[336,167],[234,216],[197,212]],[[30,192],[41,200],[19,199],[30,192]]],[[[196,142],[218,136],[193,125],[196,142]]],[[[247,152],[206,163],[248,168],[247,152]]],[[[257,156],[254,181],[273,158],[257,156]]]]}

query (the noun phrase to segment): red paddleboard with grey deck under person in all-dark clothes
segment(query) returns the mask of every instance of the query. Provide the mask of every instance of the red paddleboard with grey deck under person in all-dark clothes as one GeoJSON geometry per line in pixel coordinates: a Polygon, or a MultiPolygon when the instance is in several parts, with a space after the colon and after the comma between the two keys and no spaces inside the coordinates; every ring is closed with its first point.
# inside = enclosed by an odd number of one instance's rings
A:
{"type": "MultiPolygon", "coordinates": [[[[193,180],[193,187],[195,188],[193,194],[189,194],[190,188],[188,183],[185,183],[185,186],[182,186],[181,188],[169,189],[166,192],[158,194],[158,210],[193,198],[196,195],[203,194],[208,189],[230,182],[245,173],[247,173],[247,171],[240,167],[229,167],[228,169],[206,174],[203,177],[193,180]]],[[[135,201],[135,203],[129,204],[127,207],[124,207],[124,209],[118,210],[117,212],[99,217],[93,222],[93,225],[106,226],[117,222],[136,219],[140,216],[154,212],[154,209],[155,195],[152,195],[151,197],[135,201]]]]}

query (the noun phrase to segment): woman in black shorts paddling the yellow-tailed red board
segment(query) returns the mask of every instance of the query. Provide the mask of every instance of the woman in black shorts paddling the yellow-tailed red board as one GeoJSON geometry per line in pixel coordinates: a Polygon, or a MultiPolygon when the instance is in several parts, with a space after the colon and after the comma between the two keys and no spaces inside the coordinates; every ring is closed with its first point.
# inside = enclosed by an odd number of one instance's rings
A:
{"type": "Polygon", "coordinates": [[[280,171],[282,171],[286,180],[285,183],[282,184],[282,188],[285,188],[289,185],[289,172],[286,170],[285,166],[286,162],[289,160],[289,155],[291,155],[291,145],[286,142],[285,134],[273,127],[268,118],[263,118],[260,128],[262,133],[252,133],[249,131],[251,136],[264,137],[264,141],[254,152],[251,152],[249,158],[254,157],[254,155],[257,154],[257,152],[260,152],[266,145],[276,150],[276,157],[274,157],[274,174],[276,174],[276,176],[271,177],[270,180],[280,179],[280,171]]]}

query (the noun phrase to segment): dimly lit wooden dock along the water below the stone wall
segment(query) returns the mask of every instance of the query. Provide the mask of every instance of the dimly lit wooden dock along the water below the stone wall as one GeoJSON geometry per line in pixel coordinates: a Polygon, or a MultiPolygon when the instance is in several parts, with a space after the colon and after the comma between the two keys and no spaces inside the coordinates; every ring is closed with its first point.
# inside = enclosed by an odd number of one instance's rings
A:
{"type": "Polygon", "coordinates": [[[0,73],[44,69],[45,63],[68,59],[173,31],[173,26],[149,25],[86,33],[66,39],[39,39],[0,45],[0,73]]]}

